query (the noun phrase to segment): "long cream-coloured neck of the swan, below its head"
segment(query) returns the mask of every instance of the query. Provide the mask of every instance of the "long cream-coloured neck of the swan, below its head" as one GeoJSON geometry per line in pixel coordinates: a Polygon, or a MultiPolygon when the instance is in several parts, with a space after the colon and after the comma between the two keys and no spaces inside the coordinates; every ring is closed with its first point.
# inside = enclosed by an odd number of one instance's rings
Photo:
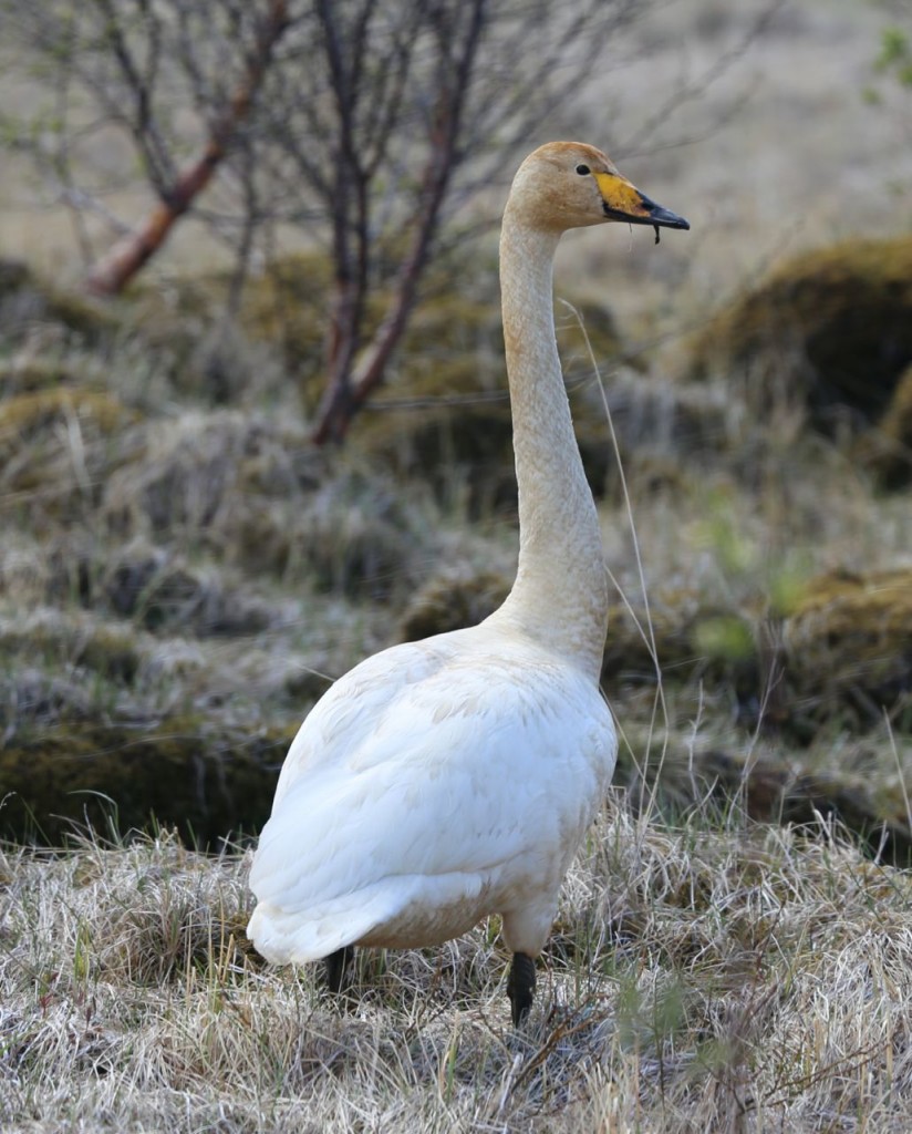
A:
{"type": "Polygon", "coordinates": [[[508,203],[501,232],[506,374],[519,485],[517,581],[496,617],[597,678],[607,625],[598,516],[573,434],[554,336],[560,234],[525,226],[508,203]]]}

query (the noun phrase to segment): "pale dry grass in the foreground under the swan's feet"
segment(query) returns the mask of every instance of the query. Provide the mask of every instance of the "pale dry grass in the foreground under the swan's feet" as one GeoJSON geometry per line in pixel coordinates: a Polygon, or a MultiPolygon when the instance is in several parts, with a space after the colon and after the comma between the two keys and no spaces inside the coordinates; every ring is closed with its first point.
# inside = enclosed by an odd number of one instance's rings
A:
{"type": "Polygon", "coordinates": [[[610,812],[522,1034],[495,925],[366,956],[336,1004],[249,953],[247,866],[167,835],[0,857],[3,1129],[905,1128],[912,880],[832,830],[610,812]]]}

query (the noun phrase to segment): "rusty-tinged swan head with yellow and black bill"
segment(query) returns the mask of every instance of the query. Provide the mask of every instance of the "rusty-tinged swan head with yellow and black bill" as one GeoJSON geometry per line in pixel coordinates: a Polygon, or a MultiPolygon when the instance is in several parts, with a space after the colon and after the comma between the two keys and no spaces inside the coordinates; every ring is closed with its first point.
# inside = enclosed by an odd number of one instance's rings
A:
{"type": "Polygon", "coordinates": [[[510,205],[527,225],[563,232],[607,221],[690,228],[688,221],[632,185],[607,154],[581,142],[549,142],[529,154],[519,168],[510,205]]]}

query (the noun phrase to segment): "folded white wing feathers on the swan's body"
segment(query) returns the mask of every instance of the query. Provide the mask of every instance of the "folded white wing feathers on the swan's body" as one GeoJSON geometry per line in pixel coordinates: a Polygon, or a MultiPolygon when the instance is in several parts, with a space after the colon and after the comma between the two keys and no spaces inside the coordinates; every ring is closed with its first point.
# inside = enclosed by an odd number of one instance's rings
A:
{"type": "Polygon", "coordinates": [[[403,917],[404,937],[433,943],[510,887],[556,895],[611,776],[607,706],[528,658],[427,668],[382,706],[368,699],[369,725],[363,702],[331,706],[321,759],[305,721],[250,874],[250,936],[272,959],[316,959],[403,917]]]}

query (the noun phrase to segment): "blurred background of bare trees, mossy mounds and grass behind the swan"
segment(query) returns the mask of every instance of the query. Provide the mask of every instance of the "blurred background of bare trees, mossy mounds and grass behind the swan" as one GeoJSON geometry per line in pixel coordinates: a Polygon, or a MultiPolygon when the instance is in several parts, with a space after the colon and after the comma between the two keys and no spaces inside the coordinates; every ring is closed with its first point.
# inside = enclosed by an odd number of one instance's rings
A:
{"type": "Polygon", "coordinates": [[[907,9],[51,7],[0,0],[2,835],[253,832],[335,676],[503,598],[496,221],[565,136],[692,223],[559,261],[619,782],[907,861],[907,9]]]}

